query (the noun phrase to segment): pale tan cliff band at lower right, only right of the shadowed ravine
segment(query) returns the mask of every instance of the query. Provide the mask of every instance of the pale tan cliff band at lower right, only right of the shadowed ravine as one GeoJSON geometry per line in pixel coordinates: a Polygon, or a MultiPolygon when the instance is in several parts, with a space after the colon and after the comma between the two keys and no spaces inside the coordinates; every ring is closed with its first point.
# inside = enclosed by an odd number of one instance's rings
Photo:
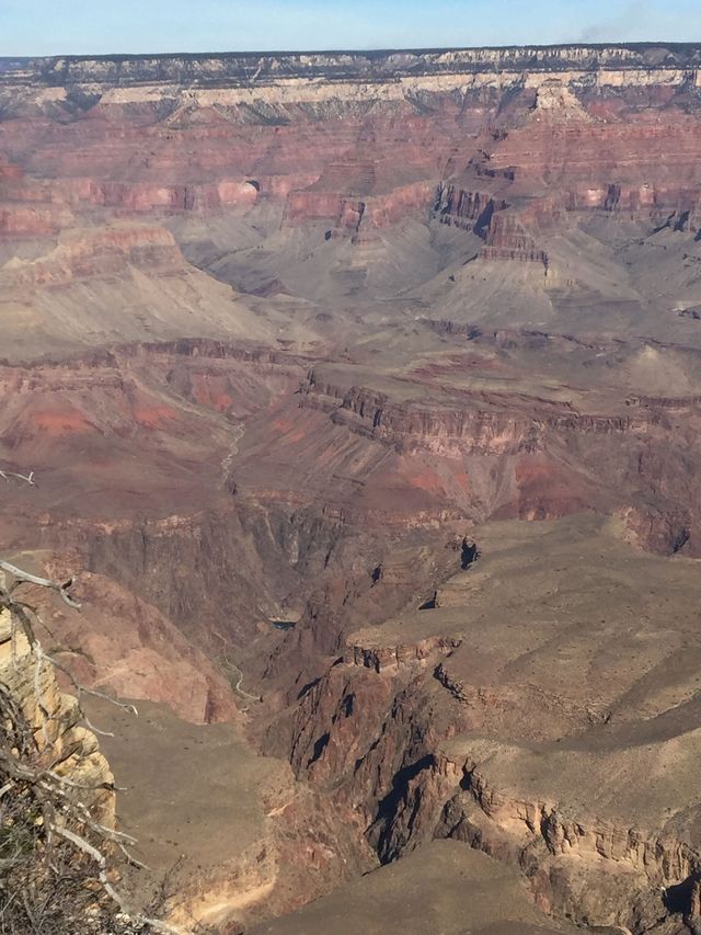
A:
{"type": "MultiPolygon", "coordinates": [[[[674,835],[645,832],[609,820],[574,814],[560,802],[518,800],[492,788],[476,764],[456,771],[448,757],[437,778],[452,774],[464,791],[450,798],[435,829],[450,837],[519,865],[537,904],[578,923],[654,930],[665,915],[665,893],[685,889],[699,873],[699,854],[674,835]]],[[[681,898],[677,912],[696,915],[681,898]]]]}

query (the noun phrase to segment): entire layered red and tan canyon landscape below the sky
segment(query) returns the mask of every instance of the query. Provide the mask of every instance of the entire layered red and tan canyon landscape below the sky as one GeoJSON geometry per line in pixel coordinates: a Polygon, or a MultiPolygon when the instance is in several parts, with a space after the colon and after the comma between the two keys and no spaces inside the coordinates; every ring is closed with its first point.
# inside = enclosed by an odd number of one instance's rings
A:
{"type": "Polygon", "coordinates": [[[0,59],[0,557],[171,931],[701,932],[700,151],[697,45],[0,59]]]}

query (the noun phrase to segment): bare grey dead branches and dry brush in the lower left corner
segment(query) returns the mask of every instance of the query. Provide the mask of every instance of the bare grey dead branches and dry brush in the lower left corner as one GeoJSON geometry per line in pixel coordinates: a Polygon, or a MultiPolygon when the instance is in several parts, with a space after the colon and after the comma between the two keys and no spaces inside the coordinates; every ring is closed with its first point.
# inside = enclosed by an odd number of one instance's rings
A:
{"type": "Polygon", "coordinates": [[[165,922],[129,912],[119,887],[119,860],[143,866],[128,851],[137,842],[100,821],[93,814],[96,799],[91,805],[89,797],[91,793],[93,799],[104,791],[114,793],[114,783],[74,779],[74,764],[91,752],[85,753],[80,742],[57,748],[58,738],[50,730],[51,712],[44,698],[45,666],[69,677],[79,716],[95,733],[105,731],[96,729],[85,716],[83,695],[104,698],[137,714],[133,705],[85,688],[48,655],[35,632],[35,625],[42,624],[37,608],[18,596],[18,589],[33,584],[55,592],[72,609],[80,609],[71,594],[74,582],[74,577],[53,581],[0,560],[0,609],[10,614],[12,662],[19,664],[16,641],[21,631],[31,652],[34,707],[41,720],[37,738],[12,692],[0,682],[0,828],[11,829],[8,834],[0,834],[0,931],[10,935],[49,931],[92,935],[94,931],[97,935],[108,926],[124,935],[179,935],[179,930],[165,922]],[[57,928],[56,924],[64,927],[57,928]]]}

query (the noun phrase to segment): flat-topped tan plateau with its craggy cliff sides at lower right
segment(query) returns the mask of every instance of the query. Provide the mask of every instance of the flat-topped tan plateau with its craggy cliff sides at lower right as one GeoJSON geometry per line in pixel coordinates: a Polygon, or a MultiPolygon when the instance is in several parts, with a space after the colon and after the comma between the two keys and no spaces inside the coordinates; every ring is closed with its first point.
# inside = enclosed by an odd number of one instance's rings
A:
{"type": "Polygon", "coordinates": [[[349,637],[289,725],[292,765],[340,809],[363,816],[384,860],[448,837],[520,867],[555,917],[641,933],[666,931],[667,912],[696,921],[697,806],[683,764],[697,750],[698,699],[691,670],[673,662],[686,652],[683,637],[670,629],[657,649],[655,607],[647,636],[619,613],[639,574],[647,602],[657,586],[650,575],[673,573],[674,627],[683,629],[691,565],[653,570],[614,527],[582,518],[538,529],[496,524],[480,548],[433,608],[414,604],[349,637]],[[579,536],[565,545],[573,522],[579,536]],[[609,637],[623,657],[637,647],[634,670],[616,668],[609,637]],[[589,670],[571,681],[583,643],[589,670]],[[658,652],[664,686],[646,674],[658,652]],[[659,780],[647,783],[653,775],[659,780]],[[666,903],[664,893],[677,891],[666,903]]]}

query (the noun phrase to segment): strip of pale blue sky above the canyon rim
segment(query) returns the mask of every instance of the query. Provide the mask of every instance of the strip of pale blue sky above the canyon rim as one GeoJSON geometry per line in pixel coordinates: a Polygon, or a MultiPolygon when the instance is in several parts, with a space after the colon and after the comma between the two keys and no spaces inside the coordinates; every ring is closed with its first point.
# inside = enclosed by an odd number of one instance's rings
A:
{"type": "Polygon", "coordinates": [[[701,42],[699,0],[0,0],[0,55],[701,42]]]}

